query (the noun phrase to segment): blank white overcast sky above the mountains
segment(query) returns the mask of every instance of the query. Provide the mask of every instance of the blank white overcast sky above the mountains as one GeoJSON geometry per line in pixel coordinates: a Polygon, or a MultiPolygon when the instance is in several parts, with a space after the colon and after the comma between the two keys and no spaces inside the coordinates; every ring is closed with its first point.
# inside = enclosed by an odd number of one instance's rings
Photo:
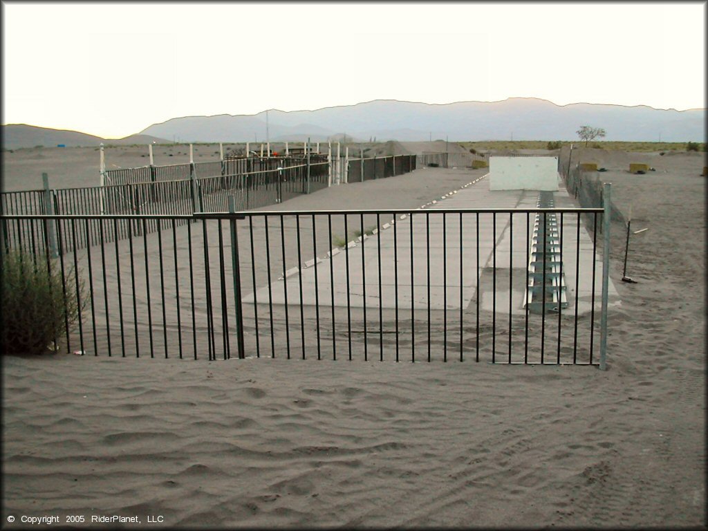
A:
{"type": "Polygon", "coordinates": [[[376,99],[705,108],[706,2],[2,1],[2,123],[120,138],[376,99]]]}

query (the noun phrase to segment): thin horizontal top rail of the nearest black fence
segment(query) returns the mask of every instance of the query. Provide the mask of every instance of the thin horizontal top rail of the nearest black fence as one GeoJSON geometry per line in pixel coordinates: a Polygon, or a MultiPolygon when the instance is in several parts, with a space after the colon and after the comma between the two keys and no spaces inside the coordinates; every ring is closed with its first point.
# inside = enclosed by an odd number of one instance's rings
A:
{"type": "Polygon", "coordinates": [[[370,214],[601,214],[603,208],[446,208],[446,209],[359,209],[359,210],[239,210],[237,212],[195,212],[193,214],[2,214],[0,219],[232,219],[258,216],[370,215],[370,214]]]}

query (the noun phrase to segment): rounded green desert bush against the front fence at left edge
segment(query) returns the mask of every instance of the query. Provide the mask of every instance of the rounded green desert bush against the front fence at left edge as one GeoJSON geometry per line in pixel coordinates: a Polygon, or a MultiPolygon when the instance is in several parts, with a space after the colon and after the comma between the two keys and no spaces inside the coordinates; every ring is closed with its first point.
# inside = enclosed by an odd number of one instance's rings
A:
{"type": "Polygon", "coordinates": [[[47,268],[46,256],[3,253],[0,269],[2,317],[0,350],[4,354],[42,354],[62,334],[73,329],[86,307],[86,292],[72,270],[47,268]]]}

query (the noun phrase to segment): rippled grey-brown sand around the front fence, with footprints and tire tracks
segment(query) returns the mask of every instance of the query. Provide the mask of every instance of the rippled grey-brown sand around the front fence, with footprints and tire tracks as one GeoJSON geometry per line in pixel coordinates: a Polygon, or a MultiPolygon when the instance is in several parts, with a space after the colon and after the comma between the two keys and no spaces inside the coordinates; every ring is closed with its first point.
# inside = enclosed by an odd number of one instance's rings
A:
{"type": "MultiPolygon", "coordinates": [[[[623,212],[632,202],[632,229],[649,229],[632,235],[627,275],[638,283],[627,284],[624,226],[612,227],[610,275],[622,306],[609,317],[607,372],[396,363],[390,343],[384,362],[6,358],[4,522],[706,525],[704,158],[656,154],[656,172],[635,176],[633,155],[598,151],[586,156],[608,169],[603,179],[623,212]]],[[[428,169],[278,207],[412,209],[484,173],[476,172],[428,169]]],[[[328,238],[316,232],[318,249],[328,238]]]]}

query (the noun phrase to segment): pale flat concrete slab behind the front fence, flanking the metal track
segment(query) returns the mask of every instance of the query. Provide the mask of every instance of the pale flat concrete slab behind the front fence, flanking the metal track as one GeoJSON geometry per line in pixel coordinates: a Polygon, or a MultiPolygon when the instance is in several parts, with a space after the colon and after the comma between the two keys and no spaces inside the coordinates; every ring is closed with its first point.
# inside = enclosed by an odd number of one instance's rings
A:
{"type": "MultiPolygon", "coordinates": [[[[381,231],[350,241],[345,249],[330,251],[328,258],[316,264],[288,271],[287,304],[300,304],[302,282],[302,303],[306,305],[319,302],[320,306],[331,306],[334,290],[337,307],[360,308],[366,304],[386,309],[396,305],[401,309],[466,309],[470,303],[476,306],[475,294],[479,292],[480,309],[491,312],[496,303],[497,312],[508,313],[511,306],[512,314],[524,314],[527,246],[532,241],[535,215],[528,215],[527,225],[525,213],[513,216],[508,213],[464,214],[461,217],[459,214],[442,215],[439,210],[535,208],[537,200],[538,193],[530,190],[490,191],[489,181],[483,177],[444,198],[422,205],[412,217],[401,215],[394,220],[382,215],[381,231]],[[491,290],[493,284],[496,284],[496,297],[491,290]]],[[[562,186],[554,193],[554,200],[556,207],[575,207],[573,198],[562,186]]],[[[562,221],[563,276],[569,302],[564,312],[574,312],[577,304],[578,314],[583,314],[590,311],[593,294],[593,241],[582,224],[578,241],[578,215],[566,214],[562,221]],[[576,255],[578,247],[580,252],[576,255]],[[576,256],[579,256],[577,263],[576,256]]],[[[596,251],[597,310],[602,293],[599,243],[596,251]]],[[[273,282],[271,290],[273,304],[285,304],[282,278],[273,282]]],[[[259,301],[267,300],[268,286],[258,290],[256,295],[259,301]]],[[[611,280],[609,295],[608,304],[619,304],[611,280]]],[[[246,297],[244,302],[253,302],[253,296],[246,297]]]]}

